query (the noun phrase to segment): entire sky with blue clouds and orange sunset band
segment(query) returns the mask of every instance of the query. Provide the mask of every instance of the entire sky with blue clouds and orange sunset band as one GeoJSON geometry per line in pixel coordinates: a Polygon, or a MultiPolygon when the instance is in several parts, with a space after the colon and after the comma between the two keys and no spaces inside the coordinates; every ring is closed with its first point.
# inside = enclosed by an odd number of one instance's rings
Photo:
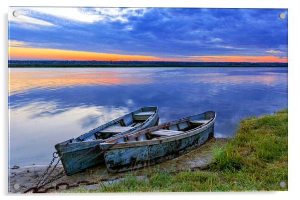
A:
{"type": "Polygon", "coordinates": [[[10,7],[8,58],[288,62],[288,9],[10,7]]]}

